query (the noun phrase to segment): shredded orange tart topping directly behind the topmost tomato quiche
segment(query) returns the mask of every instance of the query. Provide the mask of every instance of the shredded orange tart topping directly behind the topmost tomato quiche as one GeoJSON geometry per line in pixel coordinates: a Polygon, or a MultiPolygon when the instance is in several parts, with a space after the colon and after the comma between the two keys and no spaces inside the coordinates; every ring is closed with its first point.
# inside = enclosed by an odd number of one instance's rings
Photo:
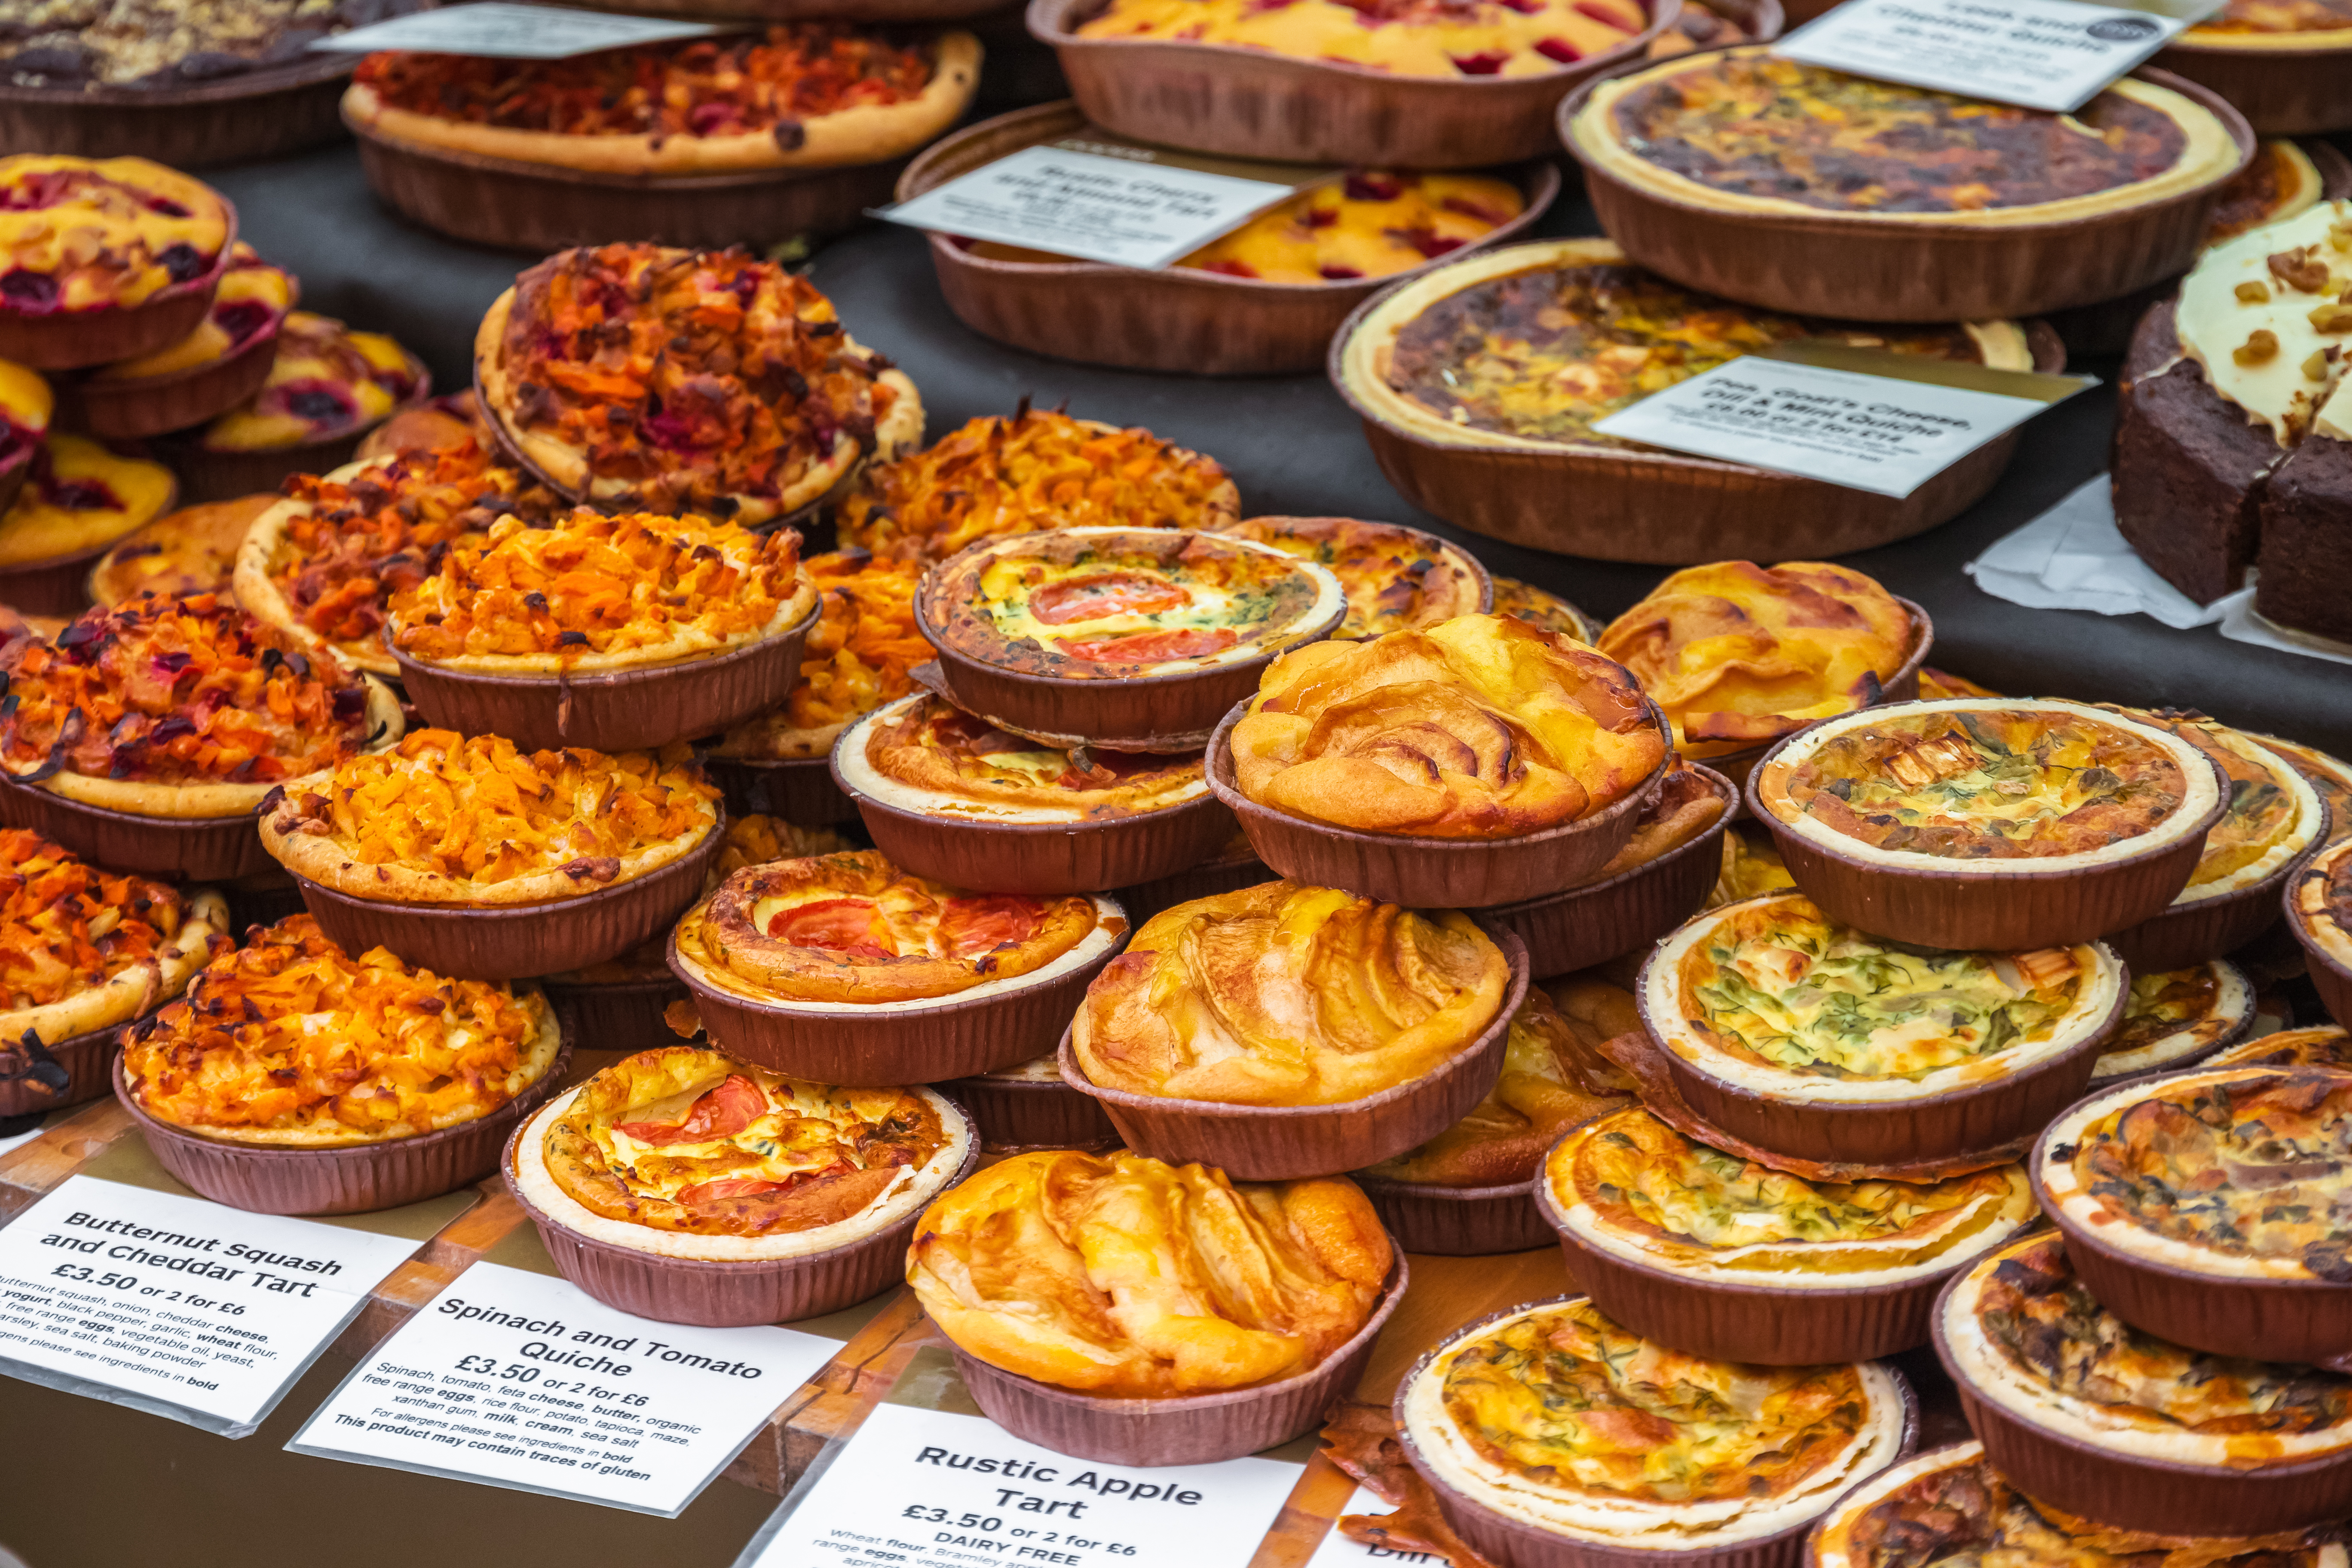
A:
{"type": "Polygon", "coordinates": [[[842,545],[943,562],[997,534],[1214,529],[1240,517],[1240,505],[1216,458],[1150,430],[1023,407],[868,465],[837,508],[835,529],[842,545]]]}

